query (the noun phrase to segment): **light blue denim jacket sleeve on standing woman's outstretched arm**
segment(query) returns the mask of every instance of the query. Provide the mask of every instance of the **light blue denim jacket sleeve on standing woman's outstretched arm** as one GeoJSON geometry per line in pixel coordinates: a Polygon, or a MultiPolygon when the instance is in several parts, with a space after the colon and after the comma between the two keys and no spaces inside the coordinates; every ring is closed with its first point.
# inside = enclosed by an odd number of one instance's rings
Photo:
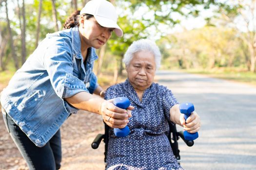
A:
{"type": "Polygon", "coordinates": [[[51,84],[60,98],[68,98],[85,91],[84,82],[73,75],[73,54],[70,42],[58,42],[47,48],[43,58],[51,84]]]}

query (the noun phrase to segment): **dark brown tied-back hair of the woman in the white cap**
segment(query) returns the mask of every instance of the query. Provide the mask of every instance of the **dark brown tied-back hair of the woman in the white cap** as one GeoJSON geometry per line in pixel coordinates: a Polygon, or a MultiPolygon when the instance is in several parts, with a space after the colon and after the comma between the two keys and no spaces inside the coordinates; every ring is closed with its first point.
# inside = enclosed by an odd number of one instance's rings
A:
{"type": "MultiPolygon", "coordinates": [[[[85,16],[85,19],[89,19],[93,17],[93,15],[90,15],[90,14],[82,14],[82,15],[85,16]]],[[[63,30],[73,28],[73,27],[78,27],[79,17],[80,17],[80,11],[75,11],[74,13],[72,13],[63,24],[63,30]]]]}

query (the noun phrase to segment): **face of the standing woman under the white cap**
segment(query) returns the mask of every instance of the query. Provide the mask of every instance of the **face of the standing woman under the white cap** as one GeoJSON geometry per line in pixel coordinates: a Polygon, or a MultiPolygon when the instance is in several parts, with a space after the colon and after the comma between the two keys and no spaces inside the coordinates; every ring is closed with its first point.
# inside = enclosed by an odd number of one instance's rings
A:
{"type": "Polygon", "coordinates": [[[86,19],[81,16],[79,19],[79,32],[82,37],[82,43],[88,47],[99,49],[111,37],[114,28],[102,27],[98,24],[95,17],[86,19]]]}

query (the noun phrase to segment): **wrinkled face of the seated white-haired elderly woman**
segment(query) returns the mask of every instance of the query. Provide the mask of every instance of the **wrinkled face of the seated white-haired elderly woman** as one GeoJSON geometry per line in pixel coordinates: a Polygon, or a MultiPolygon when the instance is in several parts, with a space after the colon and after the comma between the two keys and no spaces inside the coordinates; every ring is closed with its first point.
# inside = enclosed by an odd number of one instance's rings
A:
{"type": "Polygon", "coordinates": [[[134,88],[145,90],[154,81],[156,72],[155,57],[152,52],[138,51],[126,67],[129,82],[134,88]]]}

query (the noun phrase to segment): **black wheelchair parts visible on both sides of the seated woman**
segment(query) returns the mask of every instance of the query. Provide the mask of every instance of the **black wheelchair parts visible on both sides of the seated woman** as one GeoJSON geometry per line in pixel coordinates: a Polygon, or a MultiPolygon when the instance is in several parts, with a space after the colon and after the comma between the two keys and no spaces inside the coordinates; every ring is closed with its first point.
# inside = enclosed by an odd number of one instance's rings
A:
{"type": "MultiPolygon", "coordinates": [[[[169,134],[168,134],[168,139],[170,142],[170,145],[172,147],[173,153],[177,159],[178,164],[180,164],[180,155],[179,155],[179,149],[178,149],[178,139],[181,138],[187,146],[191,147],[194,145],[194,141],[193,140],[186,140],[183,136],[183,131],[179,131],[177,132],[177,128],[175,124],[172,124],[170,121],[168,121],[169,123],[169,134]]],[[[107,160],[107,152],[108,152],[108,138],[109,138],[109,126],[107,124],[104,123],[105,126],[105,133],[104,134],[98,134],[94,141],[91,144],[91,147],[93,149],[97,149],[100,142],[103,139],[103,142],[105,143],[105,152],[104,152],[104,163],[106,164],[106,160],[107,160]]]]}

